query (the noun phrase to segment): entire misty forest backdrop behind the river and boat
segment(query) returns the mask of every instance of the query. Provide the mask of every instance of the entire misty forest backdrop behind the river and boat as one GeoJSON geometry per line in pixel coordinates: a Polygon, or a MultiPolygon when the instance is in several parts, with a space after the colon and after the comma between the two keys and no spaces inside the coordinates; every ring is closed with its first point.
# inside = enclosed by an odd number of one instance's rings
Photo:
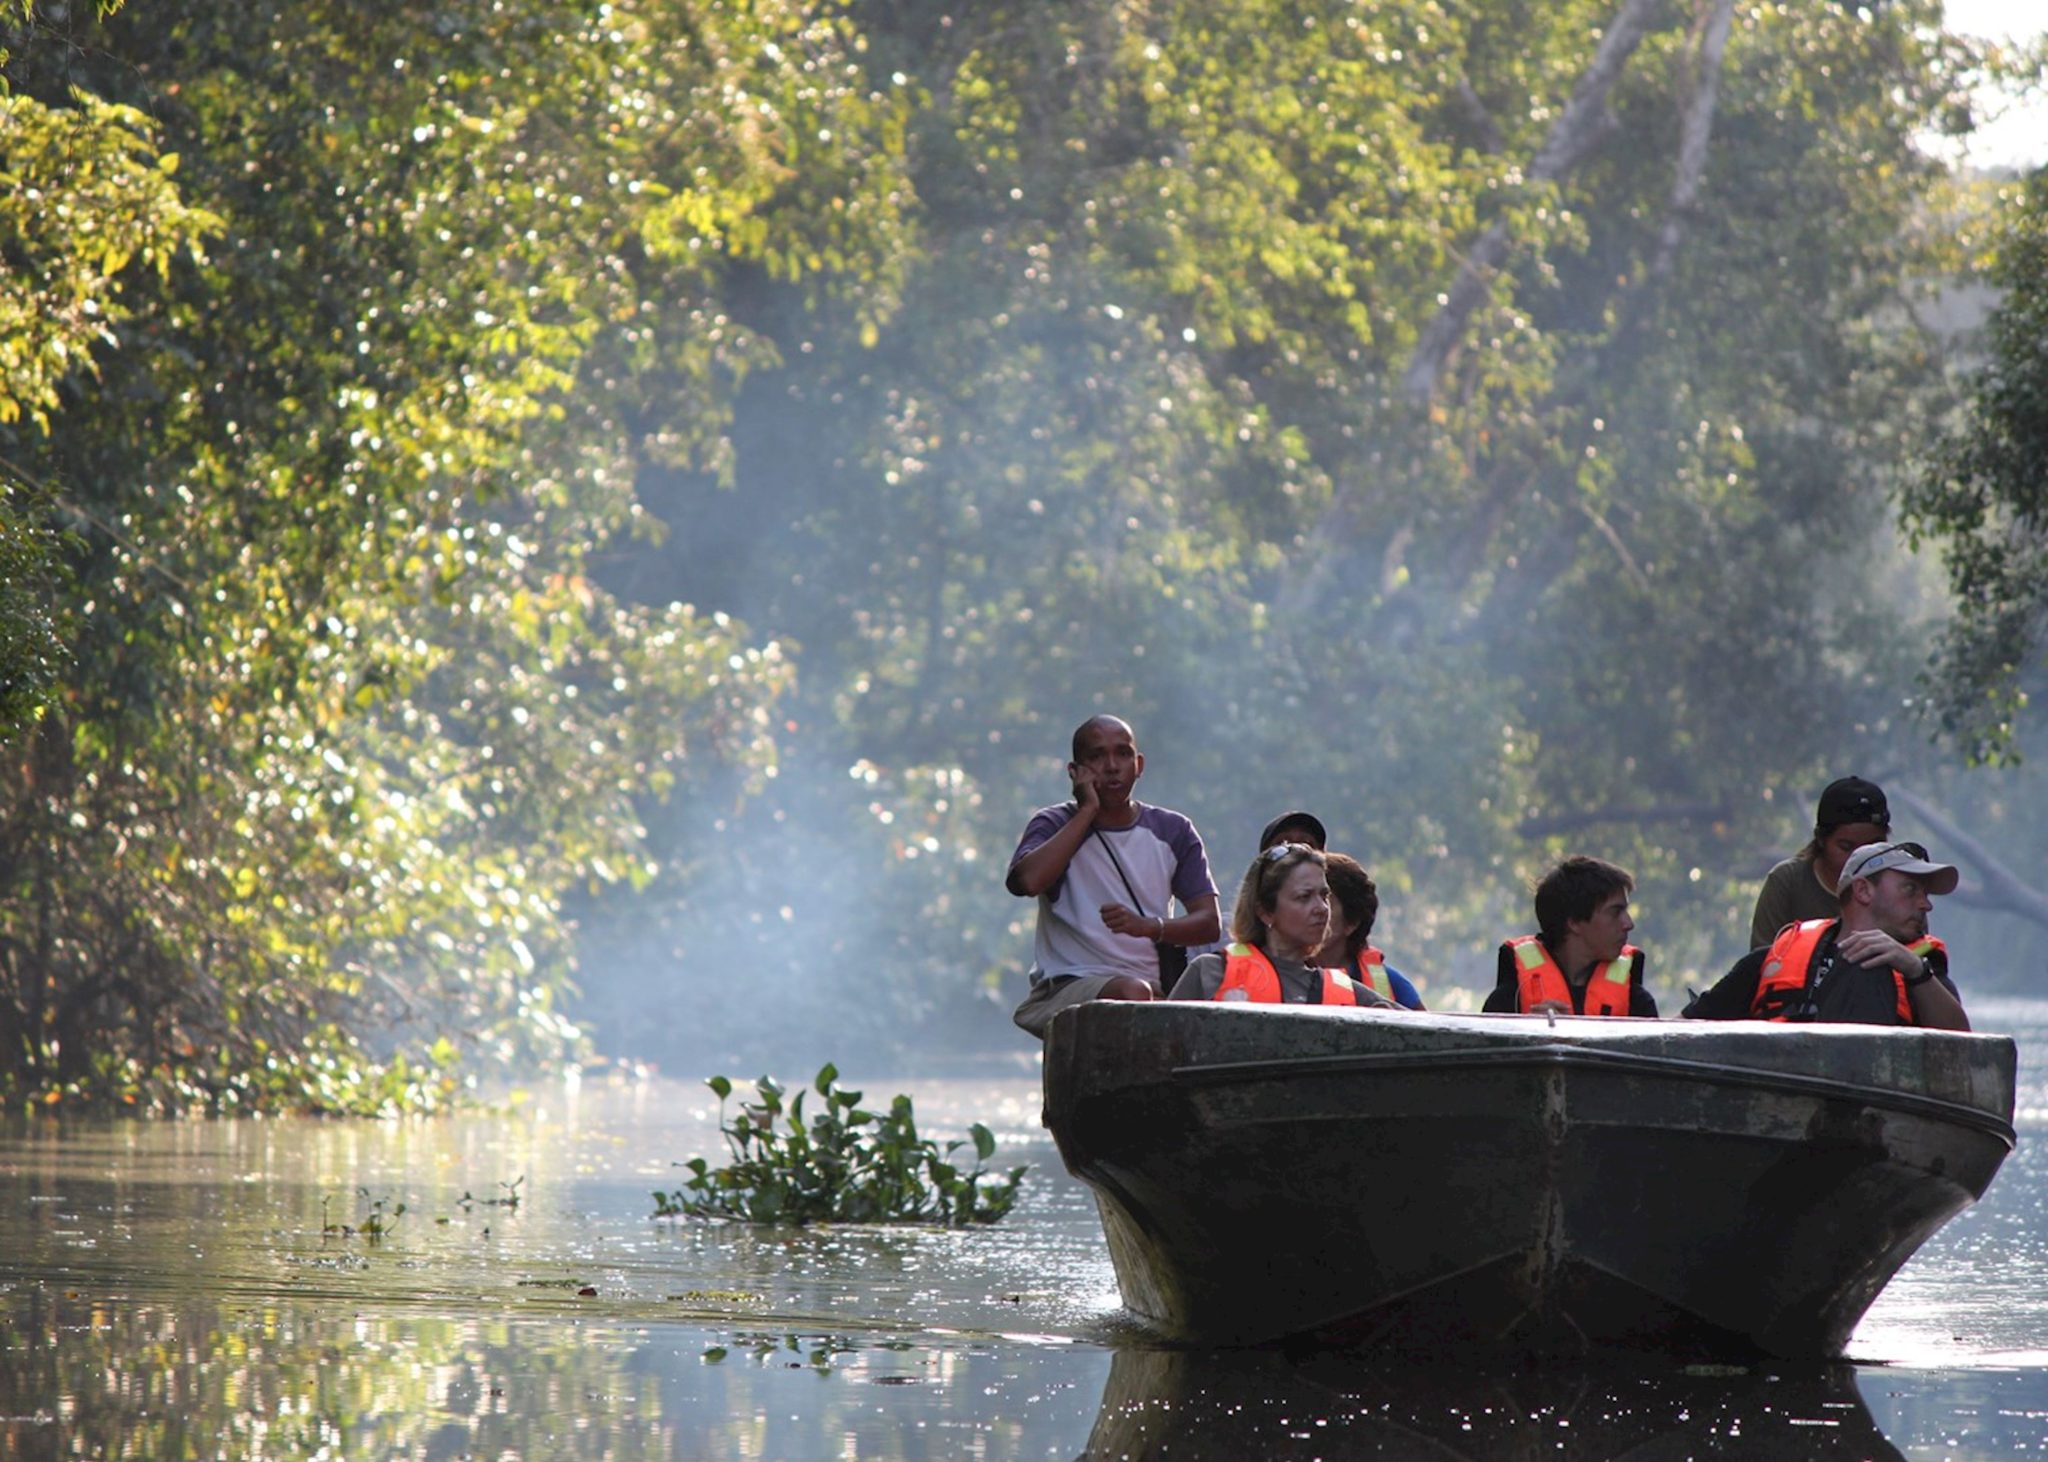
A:
{"type": "Polygon", "coordinates": [[[0,16],[10,1102],[1008,1048],[1096,711],[1432,1003],[1565,852],[1712,979],[1851,770],[2048,975],[2048,184],[1927,147],[2042,57],[1935,0],[0,16]]]}

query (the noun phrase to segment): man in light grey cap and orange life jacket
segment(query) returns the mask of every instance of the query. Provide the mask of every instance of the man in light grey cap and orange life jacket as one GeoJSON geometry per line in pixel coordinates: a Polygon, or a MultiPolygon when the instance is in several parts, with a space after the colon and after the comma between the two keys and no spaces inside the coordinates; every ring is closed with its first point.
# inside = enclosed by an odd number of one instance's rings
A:
{"type": "Polygon", "coordinates": [[[1788,923],[1686,1016],[1968,1030],[1948,950],[1927,934],[1933,899],[1954,891],[1956,870],[1919,844],[1858,848],[1841,866],[1839,917],[1788,923]]]}

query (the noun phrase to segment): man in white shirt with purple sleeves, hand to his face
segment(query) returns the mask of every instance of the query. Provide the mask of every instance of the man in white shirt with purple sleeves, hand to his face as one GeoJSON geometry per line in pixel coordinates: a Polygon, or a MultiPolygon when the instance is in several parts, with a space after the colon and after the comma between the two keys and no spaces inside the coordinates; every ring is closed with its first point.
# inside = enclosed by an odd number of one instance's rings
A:
{"type": "Polygon", "coordinates": [[[1032,813],[1010,858],[1006,887],[1038,901],[1030,993],[1012,1020],[1040,1040],[1083,999],[1157,999],[1157,946],[1212,944],[1223,930],[1202,835],[1180,813],[1139,803],[1141,776],[1128,725],[1083,721],[1067,762],[1073,801],[1032,813]]]}

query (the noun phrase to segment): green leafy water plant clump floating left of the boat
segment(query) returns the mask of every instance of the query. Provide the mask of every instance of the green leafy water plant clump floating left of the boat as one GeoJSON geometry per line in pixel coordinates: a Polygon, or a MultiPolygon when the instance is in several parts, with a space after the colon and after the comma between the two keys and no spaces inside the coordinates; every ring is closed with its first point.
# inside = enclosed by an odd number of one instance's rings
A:
{"type": "Polygon", "coordinates": [[[719,1093],[719,1132],[733,1155],[725,1167],[692,1157],[682,1188],[655,1192],[655,1218],[745,1218],[748,1222],[934,1222],[965,1227],[995,1222],[1016,1204],[1028,1163],[1006,1175],[985,1163],[995,1136],[981,1122],[967,1138],[940,1147],[918,1134],[907,1095],[887,1112],[860,1106],[860,1091],[838,1085],[831,1063],[811,1089],[825,1110],[805,1122],[809,1091],[784,1102],[772,1077],[754,1083],[756,1100],[725,1118],[733,1083],[711,1077],[719,1093]],[[975,1163],[963,1171],[954,1153],[973,1143],[975,1163]]]}

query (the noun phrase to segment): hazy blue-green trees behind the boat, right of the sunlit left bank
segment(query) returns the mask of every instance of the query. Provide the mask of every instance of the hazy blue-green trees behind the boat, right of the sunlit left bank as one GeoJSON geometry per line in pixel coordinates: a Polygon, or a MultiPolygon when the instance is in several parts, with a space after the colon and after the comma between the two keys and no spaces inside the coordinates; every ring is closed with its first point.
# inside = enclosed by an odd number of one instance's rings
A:
{"type": "Polygon", "coordinates": [[[862,903],[872,858],[805,862],[819,915],[748,969],[938,991],[979,954],[1014,991],[1028,907],[987,889],[1096,708],[1225,887],[1321,809],[1440,985],[1567,850],[1636,868],[1667,979],[1724,966],[1819,786],[1917,766],[1890,493],[1944,385],[1901,321],[1958,266],[1917,137],[1968,59],[1933,6],[858,14],[932,96],[913,289],[750,387],[739,500],[649,481],[702,532],[635,577],[803,647],[803,790],[727,844],[737,897],[782,901],[834,788],[901,872],[862,903]]]}

